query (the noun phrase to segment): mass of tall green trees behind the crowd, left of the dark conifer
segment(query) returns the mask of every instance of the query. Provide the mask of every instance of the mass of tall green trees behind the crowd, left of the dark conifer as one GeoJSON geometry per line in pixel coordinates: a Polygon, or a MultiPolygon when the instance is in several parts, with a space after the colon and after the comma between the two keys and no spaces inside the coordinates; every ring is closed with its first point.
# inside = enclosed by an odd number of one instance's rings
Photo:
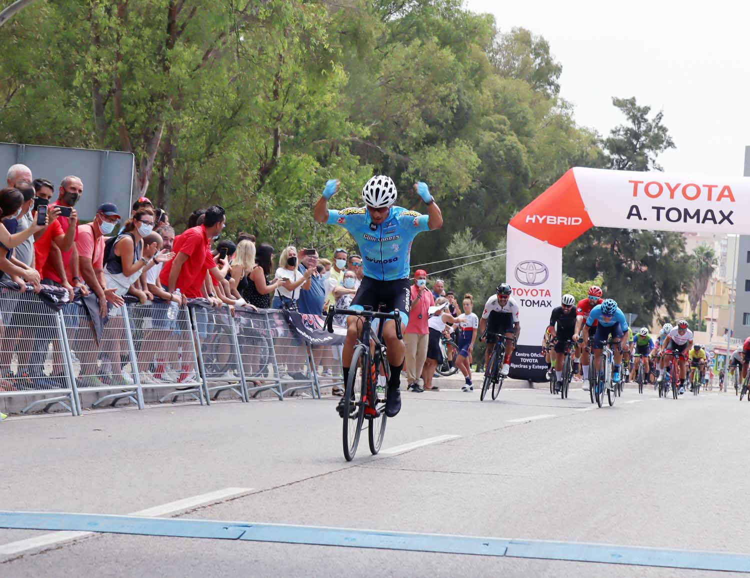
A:
{"type": "Polygon", "coordinates": [[[326,179],[341,207],[387,173],[401,205],[422,209],[422,179],[443,209],[425,262],[467,229],[499,246],[565,170],[606,161],[547,41],[460,0],[36,2],[3,32],[0,140],[133,152],[134,194],[178,230],[218,203],[227,234],[351,248],[312,206],[326,179]]]}

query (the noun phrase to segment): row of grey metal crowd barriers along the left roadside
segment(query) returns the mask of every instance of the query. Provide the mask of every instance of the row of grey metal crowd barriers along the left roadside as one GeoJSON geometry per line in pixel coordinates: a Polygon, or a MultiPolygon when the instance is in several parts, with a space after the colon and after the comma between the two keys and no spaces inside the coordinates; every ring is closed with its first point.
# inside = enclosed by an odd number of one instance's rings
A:
{"type": "Polygon", "coordinates": [[[55,309],[0,284],[0,398],[34,396],[23,413],[61,404],[80,415],[84,392],[101,393],[94,408],[124,400],[142,409],[144,389],[167,390],[160,402],[210,405],[222,392],[248,402],[269,390],[281,400],[342,384],[341,348],[309,345],[278,310],[236,307],[232,316],[196,301],[169,320],[168,303],[128,296],[95,326],[92,303],[87,311],[77,296],[55,309]]]}

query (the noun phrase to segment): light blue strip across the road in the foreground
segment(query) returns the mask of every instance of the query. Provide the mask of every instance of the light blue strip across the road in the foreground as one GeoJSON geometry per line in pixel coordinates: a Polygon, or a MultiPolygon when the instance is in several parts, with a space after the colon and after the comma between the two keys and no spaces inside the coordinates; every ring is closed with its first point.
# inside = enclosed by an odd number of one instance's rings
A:
{"type": "Polygon", "coordinates": [[[168,537],[202,537],[218,540],[299,543],[316,546],[349,546],[442,552],[449,554],[507,556],[676,567],[694,570],[750,571],[750,555],[614,546],[596,543],[508,540],[505,538],[421,534],[415,532],[326,528],[307,525],[220,522],[214,520],[145,518],[86,513],[0,511],[0,528],[21,530],[93,531],[168,537]]]}

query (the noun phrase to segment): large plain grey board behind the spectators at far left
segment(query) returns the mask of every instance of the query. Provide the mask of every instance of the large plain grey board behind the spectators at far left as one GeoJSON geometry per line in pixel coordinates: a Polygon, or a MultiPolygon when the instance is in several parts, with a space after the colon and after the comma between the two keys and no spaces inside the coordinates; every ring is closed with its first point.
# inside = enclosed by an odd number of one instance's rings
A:
{"type": "Polygon", "coordinates": [[[11,164],[26,164],[34,179],[49,179],[55,185],[74,175],[83,181],[83,197],[76,209],[81,221],[92,221],[101,203],[115,203],[123,219],[130,216],[133,189],[131,152],[95,149],[68,149],[62,146],[37,146],[0,143],[0,172],[5,186],[5,172],[11,164]]]}

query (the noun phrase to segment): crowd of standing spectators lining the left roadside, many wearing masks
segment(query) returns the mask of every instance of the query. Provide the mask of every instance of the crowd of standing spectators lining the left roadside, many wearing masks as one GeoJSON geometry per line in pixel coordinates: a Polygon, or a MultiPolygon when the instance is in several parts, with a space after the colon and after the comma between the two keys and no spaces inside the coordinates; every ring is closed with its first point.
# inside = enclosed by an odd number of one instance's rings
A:
{"type": "MultiPolygon", "coordinates": [[[[127,351],[126,346],[117,343],[125,339],[121,308],[127,295],[139,303],[151,303],[151,325],[143,328],[144,341],[163,343],[175,329],[175,321],[169,316],[170,303],[184,306],[190,299],[205,300],[208,307],[196,312],[200,335],[201,328],[205,330],[208,325],[205,311],[211,307],[227,306],[233,313],[234,308],[245,306],[321,315],[331,305],[349,307],[362,282],[362,257],[345,248],[336,248],[327,255],[332,257],[329,260],[316,248],[298,250],[290,245],[281,248],[277,260],[276,248],[268,242],[257,242],[250,233],[239,233],[236,240],[220,239],[226,227],[226,215],[220,206],[194,211],[179,235],[169,224],[167,212],[154,207],[147,197],[139,197],[126,211],[115,203],[102,203],[94,219],[83,224],[76,205],[86,194],[84,185],[72,175],[59,183],[34,178],[23,164],[7,170],[7,187],[0,190],[0,278],[13,281],[22,292],[38,293],[46,285],[68,294],[69,304],[63,306],[68,342],[80,362],[77,380],[85,387],[133,384],[118,354],[127,351]],[[114,343],[95,345],[92,339],[83,337],[84,330],[90,332],[95,322],[76,316],[80,309],[70,309],[70,302],[83,297],[95,303],[99,321],[109,324],[110,333],[118,336],[114,343]]],[[[416,272],[410,322],[404,335],[408,384],[416,392],[437,390],[432,377],[442,361],[440,338],[454,331],[460,336],[458,332],[466,321],[452,291],[445,291],[440,280],[428,288],[427,276],[425,270],[416,272]]],[[[54,353],[52,370],[45,369],[53,342],[49,322],[15,318],[31,313],[31,308],[23,304],[2,312],[0,388],[4,383],[1,380],[10,379],[62,385],[62,378],[55,372],[55,366],[62,363],[59,351],[54,353]],[[39,327],[33,333],[13,330],[24,323],[39,327]],[[14,349],[17,362],[11,367],[14,349]]],[[[346,327],[346,319],[338,316],[335,324],[346,327]]],[[[470,350],[464,353],[470,363],[470,350]]],[[[142,372],[141,381],[179,384],[193,379],[190,355],[189,351],[181,351],[178,356],[139,351],[139,363],[149,368],[142,372]]],[[[460,357],[450,361],[462,372],[468,367],[460,363],[460,357]]],[[[326,368],[326,372],[331,369],[326,368]]],[[[468,375],[466,383],[470,385],[468,375]]],[[[343,394],[338,388],[334,393],[343,394]]]]}

